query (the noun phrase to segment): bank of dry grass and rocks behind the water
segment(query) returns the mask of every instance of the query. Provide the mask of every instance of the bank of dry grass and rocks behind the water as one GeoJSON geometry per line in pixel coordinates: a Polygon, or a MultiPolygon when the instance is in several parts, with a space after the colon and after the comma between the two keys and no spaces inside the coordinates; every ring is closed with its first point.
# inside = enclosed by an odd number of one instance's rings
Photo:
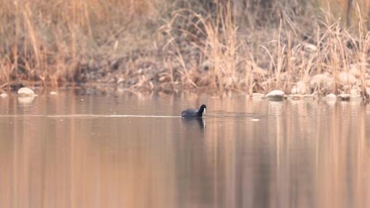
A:
{"type": "Polygon", "coordinates": [[[0,86],[367,96],[368,7],[351,0],[2,0],[0,86]]]}

